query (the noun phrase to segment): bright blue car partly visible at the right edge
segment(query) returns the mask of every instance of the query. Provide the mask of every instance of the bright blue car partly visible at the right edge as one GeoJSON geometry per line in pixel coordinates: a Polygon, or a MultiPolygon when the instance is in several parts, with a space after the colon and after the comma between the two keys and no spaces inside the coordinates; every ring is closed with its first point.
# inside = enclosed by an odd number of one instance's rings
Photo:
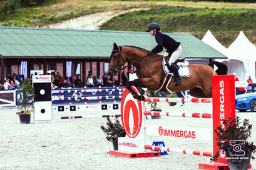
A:
{"type": "Polygon", "coordinates": [[[235,109],[245,112],[248,109],[256,112],[256,93],[246,93],[235,96],[235,109]]]}

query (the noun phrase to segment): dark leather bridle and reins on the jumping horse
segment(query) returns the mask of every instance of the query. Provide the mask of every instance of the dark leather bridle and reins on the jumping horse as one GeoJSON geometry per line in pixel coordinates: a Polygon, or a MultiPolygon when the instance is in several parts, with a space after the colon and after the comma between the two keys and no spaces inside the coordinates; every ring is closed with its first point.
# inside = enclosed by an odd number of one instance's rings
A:
{"type": "MultiPolygon", "coordinates": [[[[120,53],[121,52],[121,49],[120,49],[120,47],[118,46],[118,50],[117,49],[113,49],[112,50],[112,53],[120,53]]],[[[114,55],[113,54],[113,55],[114,55]]],[[[148,56],[148,54],[146,54],[146,56],[148,56]]],[[[123,69],[126,69],[126,68],[128,68],[128,67],[130,67],[131,65],[134,65],[134,64],[136,64],[136,63],[138,63],[139,61],[141,61],[142,59],[144,59],[144,58],[146,58],[146,56],[143,56],[142,58],[140,58],[140,59],[137,59],[137,60],[135,60],[135,61],[130,61],[130,63],[128,63],[127,64],[127,66],[123,66],[123,68],[121,68],[120,69],[120,67],[117,65],[117,64],[113,64],[113,65],[109,65],[108,66],[108,68],[110,69],[110,70],[112,70],[113,71],[113,73],[118,73],[119,71],[122,71],[123,69]],[[113,68],[110,68],[110,67],[116,67],[115,69],[113,69],[113,68]]],[[[123,56],[120,54],[120,57],[123,59],[123,56]]],[[[119,63],[120,62],[120,57],[118,58],[118,61],[116,62],[116,63],[119,63]]],[[[136,71],[138,71],[138,73],[140,74],[140,69],[142,69],[142,68],[144,68],[145,66],[148,66],[149,64],[151,64],[151,63],[154,63],[155,61],[158,61],[158,60],[160,60],[160,59],[163,59],[163,57],[161,57],[161,58],[158,58],[158,59],[155,59],[155,60],[153,60],[153,61],[150,61],[149,63],[146,63],[145,65],[143,65],[143,66],[141,66],[140,68],[137,68],[136,69],[136,71]]],[[[110,61],[111,61],[111,59],[110,59],[110,61]]],[[[126,60],[125,59],[123,59],[123,61],[125,61],[125,63],[126,63],[126,60]]],[[[136,73],[136,71],[133,71],[133,73],[136,73]]]]}

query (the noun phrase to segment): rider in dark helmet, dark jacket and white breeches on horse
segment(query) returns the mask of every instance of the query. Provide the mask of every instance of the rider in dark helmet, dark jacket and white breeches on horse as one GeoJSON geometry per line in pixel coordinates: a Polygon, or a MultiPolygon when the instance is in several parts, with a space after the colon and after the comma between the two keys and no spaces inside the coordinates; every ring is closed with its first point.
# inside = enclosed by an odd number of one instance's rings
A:
{"type": "Polygon", "coordinates": [[[157,42],[157,46],[149,51],[148,54],[160,53],[163,50],[163,47],[165,47],[167,50],[164,54],[164,57],[170,56],[167,66],[168,69],[172,69],[175,76],[176,81],[174,84],[175,86],[183,84],[182,79],[180,79],[180,74],[178,74],[178,66],[174,63],[180,57],[180,54],[182,54],[182,46],[180,46],[180,42],[177,42],[172,39],[172,37],[161,33],[160,25],[158,23],[151,23],[148,26],[148,29],[146,29],[146,32],[150,32],[151,36],[155,36],[157,42]]]}

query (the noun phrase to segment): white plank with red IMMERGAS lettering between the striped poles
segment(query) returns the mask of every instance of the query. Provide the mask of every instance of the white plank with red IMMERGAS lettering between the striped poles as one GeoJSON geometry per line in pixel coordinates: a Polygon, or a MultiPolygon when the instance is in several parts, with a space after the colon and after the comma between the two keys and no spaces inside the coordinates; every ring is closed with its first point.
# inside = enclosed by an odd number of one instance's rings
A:
{"type": "Polygon", "coordinates": [[[166,138],[193,139],[212,141],[212,130],[206,128],[190,128],[168,125],[146,125],[146,134],[166,138]]]}

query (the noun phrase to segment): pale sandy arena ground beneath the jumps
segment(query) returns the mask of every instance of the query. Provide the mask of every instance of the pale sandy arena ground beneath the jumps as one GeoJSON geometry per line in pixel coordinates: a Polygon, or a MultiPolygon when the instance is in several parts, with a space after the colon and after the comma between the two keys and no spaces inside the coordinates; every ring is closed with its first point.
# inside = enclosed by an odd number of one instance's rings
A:
{"type": "MultiPolygon", "coordinates": [[[[161,103],[163,111],[211,113],[210,104],[188,104],[168,106],[161,103]]],[[[90,114],[120,114],[120,111],[76,112],[76,116],[90,114]]],[[[252,138],[256,141],[256,113],[238,113],[242,119],[253,124],[252,138]]],[[[53,113],[54,116],[68,116],[74,113],[53,113]]],[[[31,118],[33,120],[33,118],[31,118]]],[[[149,124],[170,124],[207,128],[210,119],[164,118],[149,119],[149,124]]],[[[188,154],[168,153],[157,158],[128,159],[111,156],[113,149],[100,129],[105,118],[63,119],[54,123],[19,124],[16,109],[0,110],[0,169],[198,169],[198,163],[209,163],[210,158],[188,154]]],[[[208,141],[168,139],[150,137],[151,141],[164,141],[166,146],[201,151],[212,151],[208,141]]],[[[256,162],[251,161],[252,169],[256,162]]]]}

